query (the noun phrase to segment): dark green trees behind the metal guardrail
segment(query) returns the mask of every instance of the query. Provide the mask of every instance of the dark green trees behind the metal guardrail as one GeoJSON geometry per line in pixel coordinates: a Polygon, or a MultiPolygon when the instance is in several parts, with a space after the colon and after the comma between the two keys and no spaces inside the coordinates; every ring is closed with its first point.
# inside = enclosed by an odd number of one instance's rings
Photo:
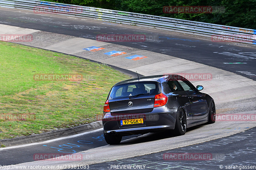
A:
{"type": "Polygon", "coordinates": [[[55,2],[256,29],[256,0],[58,0],[55,2]],[[224,6],[225,13],[166,14],[164,6],[224,6]]]}

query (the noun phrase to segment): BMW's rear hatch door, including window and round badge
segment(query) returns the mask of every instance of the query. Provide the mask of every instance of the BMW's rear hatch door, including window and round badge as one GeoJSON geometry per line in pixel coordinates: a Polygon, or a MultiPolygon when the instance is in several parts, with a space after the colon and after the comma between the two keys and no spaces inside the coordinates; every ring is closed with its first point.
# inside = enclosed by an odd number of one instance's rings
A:
{"type": "Polygon", "coordinates": [[[156,81],[132,82],[116,85],[108,97],[111,115],[151,112],[155,95],[160,93],[160,83],[156,81]]]}

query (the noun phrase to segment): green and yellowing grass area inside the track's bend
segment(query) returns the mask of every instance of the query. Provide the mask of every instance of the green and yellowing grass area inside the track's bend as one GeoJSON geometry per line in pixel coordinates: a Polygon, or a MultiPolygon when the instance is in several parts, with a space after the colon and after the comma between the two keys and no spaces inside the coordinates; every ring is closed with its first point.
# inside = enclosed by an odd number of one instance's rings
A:
{"type": "Polygon", "coordinates": [[[0,139],[96,121],[113,84],[130,78],[104,64],[0,42],[0,139]],[[36,81],[35,74],[81,74],[36,81]]]}

